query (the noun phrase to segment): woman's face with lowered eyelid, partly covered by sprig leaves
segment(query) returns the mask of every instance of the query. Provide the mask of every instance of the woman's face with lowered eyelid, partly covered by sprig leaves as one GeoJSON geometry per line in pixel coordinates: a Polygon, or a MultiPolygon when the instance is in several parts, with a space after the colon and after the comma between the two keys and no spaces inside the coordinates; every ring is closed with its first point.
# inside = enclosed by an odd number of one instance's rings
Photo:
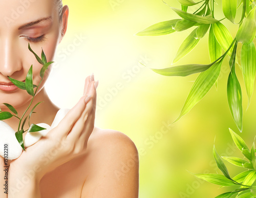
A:
{"type": "MultiPolygon", "coordinates": [[[[41,48],[52,61],[61,39],[62,24],[54,0],[12,0],[2,1],[0,7],[0,103],[14,107],[21,106],[32,97],[26,90],[13,89],[8,76],[25,81],[33,64],[33,84],[38,85],[41,64],[28,49],[40,57],[41,48]]],[[[45,73],[37,93],[44,86],[51,67],[45,73]]],[[[4,107],[3,104],[0,107],[4,107]]]]}

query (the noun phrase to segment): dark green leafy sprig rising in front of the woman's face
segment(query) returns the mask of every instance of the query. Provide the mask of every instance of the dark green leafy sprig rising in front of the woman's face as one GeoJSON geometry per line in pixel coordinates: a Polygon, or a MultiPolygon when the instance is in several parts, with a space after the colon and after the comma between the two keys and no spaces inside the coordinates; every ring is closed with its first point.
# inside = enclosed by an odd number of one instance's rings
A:
{"type": "Polygon", "coordinates": [[[19,89],[26,90],[27,93],[32,96],[32,100],[31,100],[31,102],[30,102],[28,108],[26,109],[26,111],[23,113],[23,115],[22,115],[21,118],[18,117],[18,113],[17,113],[16,109],[15,109],[12,105],[10,105],[10,104],[8,104],[8,103],[3,103],[3,104],[6,105],[6,106],[10,109],[10,111],[11,111],[13,114],[10,113],[10,112],[2,112],[1,109],[0,109],[0,120],[6,120],[6,119],[9,119],[9,118],[11,118],[11,117],[16,117],[17,119],[19,119],[18,129],[17,129],[17,131],[16,131],[16,133],[15,133],[15,137],[16,137],[18,143],[20,144],[20,146],[21,146],[24,150],[25,150],[25,147],[24,147],[24,142],[23,142],[23,134],[24,134],[26,131],[28,131],[28,133],[33,133],[33,132],[36,132],[36,131],[40,131],[40,130],[46,129],[46,128],[40,127],[40,126],[38,126],[38,125],[36,125],[36,124],[30,124],[31,115],[32,115],[33,113],[35,113],[35,112],[34,112],[35,107],[36,107],[38,104],[40,104],[41,102],[38,102],[38,103],[31,109],[30,114],[29,114],[26,118],[24,118],[24,116],[25,116],[25,114],[28,112],[28,109],[30,108],[30,106],[31,106],[31,104],[32,104],[32,102],[33,102],[33,100],[34,100],[34,97],[35,97],[35,95],[36,95],[36,92],[37,92],[37,90],[38,90],[38,87],[40,86],[40,84],[41,84],[41,82],[42,82],[42,79],[44,78],[44,75],[45,75],[46,70],[48,69],[49,65],[53,63],[53,61],[47,62],[47,58],[46,58],[46,55],[45,55],[45,53],[44,53],[44,50],[42,50],[42,52],[41,52],[41,58],[39,58],[39,56],[31,49],[30,45],[28,45],[28,48],[29,48],[29,51],[31,51],[31,52],[34,54],[36,60],[42,65],[42,68],[41,68],[41,70],[40,70],[40,77],[41,77],[41,80],[40,80],[39,84],[38,84],[38,85],[33,84],[33,72],[32,72],[33,65],[31,65],[31,67],[30,67],[30,69],[29,69],[29,71],[28,71],[28,73],[27,73],[25,82],[15,80],[15,79],[13,79],[13,78],[11,78],[11,77],[9,77],[9,76],[8,76],[8,78],[9,78],[10,81],[11,81],[14,85],[16,85],[19,89]],[[34,88],[35,88],[35,87],[36,87],[36,90],[34,91],[34,88]],[[29,128],[28,128],[27,130],[24,130],[24,125],[25,125],[27,119],[28,119],[28,123],[29,123],[29,128]],[[21,125],[21,127],[20,127],[20,125],[21,125]]]}

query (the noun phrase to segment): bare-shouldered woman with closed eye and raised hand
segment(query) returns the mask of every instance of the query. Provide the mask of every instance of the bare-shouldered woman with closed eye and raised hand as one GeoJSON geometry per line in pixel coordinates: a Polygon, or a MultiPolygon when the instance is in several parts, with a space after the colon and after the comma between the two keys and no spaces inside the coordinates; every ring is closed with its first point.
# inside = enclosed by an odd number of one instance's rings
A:
{"type": "MultiPolygon", "coordinates": [[[[8,76],[23,81],[33,64],[33,83],[39,83],[41,65],[28,51],[28,42],[37,54],[43,48],[48,61],[53,60],[67,30],[69,9],[59,0],[2,1],[0,9],[0,107],[9,111],[2,104],[6,102],[23,114],[32,97],[16,89],[8,76]]],[[[51,125],[59,110],[44,89],[50,71],[51,66],[33,100],[32,106],[44,102],[36,107],[31,123],[51,125]]],[[[119,131],[94,126],[97,85],[94,76],[88,76],[84,95],[58,126],[18,159],[8,162],[8,195],[1,188],[0,198],[138,197],[138,152],[134,143],[119,131]]],[[[5,122],[17,130],[18,119],[5,122]]],[[[0,165],[5,166],[2,157],[0,165]]],[[[1,171],[0,181],[3,186],[5,171],[1,171]]]]}

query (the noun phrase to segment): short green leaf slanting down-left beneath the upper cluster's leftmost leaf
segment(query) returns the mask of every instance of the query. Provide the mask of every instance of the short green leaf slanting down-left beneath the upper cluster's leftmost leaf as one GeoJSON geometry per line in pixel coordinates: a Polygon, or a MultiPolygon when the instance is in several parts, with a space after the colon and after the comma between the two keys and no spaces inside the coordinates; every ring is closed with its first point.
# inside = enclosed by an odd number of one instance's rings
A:
{"type": "Polygon", "coordinates": [[[196,31],[198,28],[193,30],[187,37],[186,39],[182,42],[174,60],[173,63],[177,62],[181,58],[183,58],[187,53],[189,53],[191,50],[193,50],[197,43],[199,42],[200,39],[197,39],[196,36],[196,31]]]}

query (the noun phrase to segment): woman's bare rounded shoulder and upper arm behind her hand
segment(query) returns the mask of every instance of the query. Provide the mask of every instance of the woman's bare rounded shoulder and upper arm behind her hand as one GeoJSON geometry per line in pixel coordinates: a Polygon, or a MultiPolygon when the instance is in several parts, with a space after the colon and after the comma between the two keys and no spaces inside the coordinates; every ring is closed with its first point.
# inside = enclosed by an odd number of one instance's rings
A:
{"type": "Polygon", "coordinates": [[[87,149],[91,171],[82,197],[138,197],[138,151],[129,137],[95,127],[87,149]]]}

